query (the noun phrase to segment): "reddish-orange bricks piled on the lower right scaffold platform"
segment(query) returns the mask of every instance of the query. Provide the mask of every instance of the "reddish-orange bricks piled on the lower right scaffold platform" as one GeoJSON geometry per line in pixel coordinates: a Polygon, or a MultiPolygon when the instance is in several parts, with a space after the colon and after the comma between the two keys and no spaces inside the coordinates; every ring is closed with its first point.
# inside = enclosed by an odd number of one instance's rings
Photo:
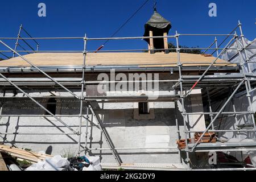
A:
{"type": "MultiPolygon", "coordinates": [[[[188,139],[188,143],[196,143],[202,134],[203,133],[195,133],[194,138],[188,139]]],[[[215,143],[215,142],[216,142],[216,133],[214,133],[214,132],[205,133],[204,136],[199,141],[199,143],[215,143]]],[[[185,139],[177,140],[177,145],[178,145],[179,149],[185,148],[186,147],[185,139]]]]}

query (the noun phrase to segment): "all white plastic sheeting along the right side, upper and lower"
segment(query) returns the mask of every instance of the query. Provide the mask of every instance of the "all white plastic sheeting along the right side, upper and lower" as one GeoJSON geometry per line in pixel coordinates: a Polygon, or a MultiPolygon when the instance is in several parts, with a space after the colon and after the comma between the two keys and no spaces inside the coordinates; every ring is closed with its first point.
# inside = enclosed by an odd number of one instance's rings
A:
{"type": "MultiPolygon", "coordinates": [[[[238,38],[238,45],[241,49],[243,47],[242,38],[238,38]]],[[[252,42],[245,39],[245,47],[256,47],[256,39],[254,39],[252,42]]],[[[226,61],[230,61],[231,63],[240,63],[240,57],[237,52],[237,43],[233,43],[229,48],[235,48],[235,49],[229,49],[224,52],[222,55],[222,59],[226,61]]],[[[246,54],[244,51],[241,51],[242,61],[243,60],[249,60],[249,61],[255,61],[256,62],[256,49],[246,49],[246,54]],[[247,59],[246,59],[247,58],[247,59]]],[[[245,72],[256,73],[256,64],[244,64],[245,65],[245,72]]],[[[256,111],[256,91],[251,92],[251,104],[253,107],[253,111],[255,113],[256,111]]],[[[225,101],[222,101],[225,102],[225,101]]],[[[213,105],[213,110],[216,110],[218,105],[220,103],[216,103],[213,105]]],[[[225,107],[224,111],[234,111],[233,104],[235,106],[236,111],[250,111],[250,106],[248,103],[248,99],[246,96],[246,92],[237,93],[233,100],[229,102],[229,104],[225,107]]],[[[221,117],[221,115],[220,115],[221,117]]],[[[215,129],[219,130],[237,130],[240,129],[241,126],[251,125],[253,126],[252,118],[249,114],[237,114],[237,117],[230,116],[230,117],[224,117],[222,119],[219,119],[218,122],[220,122],[220,127],[215,129]]],[[[216,125],[215,125],[216,126],[216,125]]],[[[250,127],[251,127],[250,126],[250,127]]],[[[225,141],[225,142],[255,142],[255,132],[220,132],[218,133],[218,137],[225,141]]],[[[256,167],[256,151],[242,151],[242,152],[228,152],[229,155],[233,155],[240,161],[244,161],[247,156],[250,156],[250,160],[253,163],[253,165],[256,167]]]]}

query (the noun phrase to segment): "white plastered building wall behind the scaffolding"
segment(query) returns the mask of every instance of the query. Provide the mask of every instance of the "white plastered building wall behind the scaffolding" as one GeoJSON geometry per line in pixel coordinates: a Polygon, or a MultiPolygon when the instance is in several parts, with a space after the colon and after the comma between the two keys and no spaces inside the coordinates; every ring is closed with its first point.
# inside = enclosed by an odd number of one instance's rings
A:
{"type": "MultiPolygon", "coordinates": [[[[165,78],[165,75],[162,75],[165,78]]],[[[168,79],[170,77],[167,77],[168,79]]],[[[173,77],[172,77],[173,78],[173,77]]],[[[50,93],[34,90],[31,96],[50,96],[50,93]]],[[[56,96],[69,96],[69,93],[52,92],[56,96]]],[[[75,93],[80,96],[79,90],[75,93]]],[[[171,83],[160,83],[160,94],[172,94],[171,83]]],[[[108,92],[107,95],[126,95],[127,93],[108,92]]],[[[200,93],[197,93],[200,96],[200,93]]],[[[13,93],[6,93],[13,96],[13,93]]],[[[22,94],[18,94],[22,96],[22,94]]],[[[191,101],[196,107],[192,110],[203,111],[201,100],[191,101]]],[[[93,104],[94,110],[102,118],[102,122],[108,131],[114,146],[123,147],[176,147],[177,126],[175,122],[174,102],[154,102],[154,119],[137,120],[133,117],[134,103],[104,103],[93,104]]],[[[183,118],[181,106],[177,110],[177,118],[181,138],[184,138],[183,118]]],[[[189,110],[187,108],[187,110],[189,110]]],[[[3,105],[3,114],[44,114],[42,109],[35,105],[3,105]]],[[[86,113],[84,108],[83,113],[86,113]]],[[[56,114],[79,114],[79,105],[57,105],[56,114]]],[[[205,127],[204,118],[199,116],[189,118],[190,125],[197,123],[196,129],[205,127]],[[198,127],[197,127],[198,126],[198,127]]],[[[60,117],[67,125],[78,131],[79,118],[60,117]]],[[[98,129],[95,118],[89,115],[88,147],[108,148],[101,131],[98,129]]],[[[82,145],[85,139],[86,120],[82,119],[82,145]]],[[[3,117],[0,119],[0,133],[16,133],[14,135],[0,134],[0,141],[20,148],[31,148],[34,151],[52,151],[52,155],[76,154],[77,135],[38,135],[38,133],[71,133],[61,123],[52,117],[3,117]],[[31,133],[21,135],[18,133],[31,133]],[[48,149],[47,149],[48,148],[48,149]]],[[[177,150],[120,150],[118,151],[123,163],[180,163],[177,150]]],[[[115,162],[110,151],[92,151],[90,155],[100,155],[102,162],[115,162]]]]}

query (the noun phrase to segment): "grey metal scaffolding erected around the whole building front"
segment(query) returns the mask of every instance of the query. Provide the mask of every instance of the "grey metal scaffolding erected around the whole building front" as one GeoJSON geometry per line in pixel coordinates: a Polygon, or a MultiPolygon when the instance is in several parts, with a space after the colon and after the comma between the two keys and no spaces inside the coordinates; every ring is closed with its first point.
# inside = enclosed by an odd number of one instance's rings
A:
{"type": "MultiPolygon", "coordinates": [[[[83,37],[58,37],[58,38],[33,38],[26,30],[24,30],[23,26],[20,26],[18,37],[17,38],[0,38],[0,43],[5,46],[8,50],[7,51],[0,51],[2,55],[6,56],[6,53],[13,53],[13,57],[19,56],[22,58],[22,60],[26,61],[28,64],[31,65],[31,67],[9,67],[6,69],[2,69],[0,72],[0,76],[2,79],[0,80],[0,85],[3,88],[15,88],[19,90],[21,93],[24,94],[27,98],[29,98],[32,102],[34,102],[36,105],[41,107],[43,110],[48,113],[48,115],[44,114],[37,114],[37,115],[22,115],[22,114],[2,114],[2,106],[0,111],[0,117],[53,117],[60,123],[62,123],[65,127],[67,127],[71,133],[63,133],[64,135],[77,135],[78,137],[78,143],[77,143],[77,150],[78,155],[81,154],[81,152],[88,152],[88,151],[102,151],[102,150],[110,150],[112,152],[112,155],[117,163],[117,166],[108,166],[109,168],[113,167],[123,167],[122,166],[122,160],[118,155],[118,150],[144,150],[144,149],[174,149],[176,147],[162,147],[162,148],[150,148],[150,147],[133,147],[133,148],[115,148],[114,143],[112,142],[112,139],[110,138],[108,131],[105,129],[104,124],[101,121],[101,118],[98,116],[98,114],[94,111],[94,108],[92,106],[92,102],[138,102],[138,101],[147,101],[147,102],[175,102],[175,110],[177,109],[177,102],[180,101],[182,106],[182,116],[183,116],[183,124],[184,124],[184,136],[185,136],[185,144],[186,147],[184,150],[186,154],[186,160],[185,163],[187,164],[187,170],[196,170],[192,169],[191,167],[191,159],[189,158],[189,154],[191,152],[210,152],[210,151],[253,151],[256,150],[256,142],[237,142],[237,143],[199,143],[199,140],[203,137],[203,135],[207,132],[230,132],[235,133],[238,131],[243,131],[247,133],[256,133],[256,126],[254,121],[254,112],[253,108],[251,106],[251,91],[253,90],[252,86],[256,84],[255,77],[251,70],[249,70],[249,73],[245,72],[245,64],[251,64],[250,58],[246,55],[246,49],[249,49],[245,45],[245,38],[242,32],[242,24],[238,22],[238,25],[230,34],[179,34],[177,31],[175,35],[172,36],[148,36],[148,37],[123,37],[123,38],[88,38],[86,35],[83,37]],[[240,31],[240,37],[242,38],[242,47],[238,44],[238,38],[237,35],[237,29],[240,31]],[[24,31],[28,37],[21,37],[21,32],[24,31]],[[184,48],[180,47],[180,40],[179,38],[181,36],[213,36],[214,41],[212,44],[210,44],[207,48],[184,48]],[[221,44],[218,45],[217,43],[217,36],[223,36],[225,39],[222,41],[221,44]],[[148,96],[84,96],[84,92],[86,91],[86,85],[89,84],[99,84],[99,81],[86,81],[86,73],[87,72],[102,72],[102,71],[110,71],[110,69],[117,69],[120,72],[128,72],[128,71],[145,71],[145,68],[138,68],[138,67],[131,67],[131,65],[122,65],[119,67],[106,67],[106,68],[100,68],[100,67],[90,67],[86,65],[86,55],[87,53],[94,53],[95,51],[90,51],[86,48],[86,45],[88,42],[96,41],[96,40],[130,40],[130,39],[174,39],[176,41],[176,48],[168,48],[169,51],[176,51],[177,53],[177,66],[176,67],[162,67],[162,68],[148,68],[147,71],[168,71],[170,73],[178,72],[179,78],[176,80],[147,80],[147,82],[173,82],[174,86],[173,89],[175,91],[175,94],[172,95],[166,95],[166,96],[160,96],[158,100],[151,100],[148,96]],[[38,40],[83,40],[84,41],[84,48],[82,51],[40,51],[39,50],[39,43],[38,40]],[[11,48],[9,45],[7,45],[5,40],[16,40],[15,48],[11,48]],[[34,43],[36,43],[36,49],[34,49],[30,44],[27,43],[27,40],[32,40],[34,43]],[[221,47],[222,44],[225,43],[226,40],[229,40],[228,43],[226,43],[225,47],[221,47]],[[28,47],[31,48],[31,50],[26,50],[20,45],[20,41],[25,43],[28,47]],[[231,44],[235,43],[237,45],[237,53],[240,57],[240,63],[237,64],[237,67],[213,67],[213,65],[218,65],[216,61],[220,59],[220,56],[229,48],[231,44]],[[215,46],[212,48],[212,46],[215,46]],[[20,47],[23,50],[17,50],[17,48],[20,47]],[[191,68],[185,68],[183,67],[183,62],[181,60],[180,52],[182,49],[201,49],[205,50],[203,54],[205,54],[207,51],[212,50],[212,55],[216,53],[216,59],[209,64],[209,66],[200,66],[200,67],[191,67],[191,68]],[[77,53],[83,53],[84,60],[83,64],[81,66],[51,66],[51,67],[40,67],[31,62],[31,60],[26,59],[22,55],[22,53],[34,53],[34,52],[77,52],[77,53]],[[242,54],[245,55],[246,60],[243,59],[242,54]],[[209,72],[214,73],[216,71],[224,70],[228,72],[230,69],[230,72],[237,72],[233,73],[232,75],[209,75],[209,72]],[[193,71],[203,71],[203,74],[195,76],[195,75],[183,75],[183,71],[186,70],[193,70],[193,71]],[[28,73],[28,72],[34,72],[34,73],[41,73],[46,78],[40,77],[35,78],[34,80],[29,80],[24,78],[9,78],[5,74],[8,73],[9,75],[14,73],[28,73]],[[81,78],[53,78],[48,74],[48,72],[79,72],[81,73],[81,78]],[[70,96],[56,96],[55,98],[57,100],[61,100],[63,98],[75,98],[76,104],[80,105],[80,113],[78,115],[55,115],[51,113],[46,107],[42,104],[42,99],[47,97],[32,97],[29,94],[25,92],[26,89],[30,89],[30,86],[38,86],[38,88],[41,89],[49,89],[49,88],[59,88],[61,90],[64,90],[65,92],[69,93],[70,96]],[[81,96],[77,96],[75,92],[72,92],[73,88],[80,88],[81,90],[81,96]],[[209,112],[197,112],[197,113],[187,113],[184,106],[184,100],[189,96],[189,94],[192,92],[193,89],[200,88],[200,89],[206,89],[207,93],[205,98],[207,98],[208,106],[209,106],[209,112]],[[220,90],[218,88],[221,88],[220,90]],[[225,101],[225,103],[221,106],[220,110],[213,111],[211,106],[211,100],[213,100],[212,96],[218,96],[220,93],[223,93],[223,90],[229,88],[233,88],[233,92],[231,94],[225,95],[228,99],[225,101]],[[249,111],[236,111],[236,107],[234,107],[234,111],[225,112],[225,106],[229,104],[230,101],[232,101],[233,96],[241,92],[241,90],[246,91],[247,100],[249,103],[250,110],[249,111]],[[82,108],[86,107],[86,113],[83,113],[82,108]],[[89,114],[92,114],[96,118],[96,122],[98,124],[99,129],[101,130],[101,133],[104,135],[106,143],[108,143],[109,148],[89,148],[88,147],[88,125],[89,125],[89,114]],[[210,123],[207,126],[207,128],[204,131],[190,131],[187,127],[188,123],[188,116],[189,115],[209,115],[210,117],[210,123]],[[250,127],[249,129],[236,129],[236,130],[217,130],[214,128],[213,123],[217,121],[217,119],[220,118],[222,115],[230,115],[234,116],[235,119],[237,114],[250,114],[251,121],[253,121],[253,127],[250,127]],[[67,123],[65,123],[60,117],[77,117],[79,119],[79,128],[78,131],[75,131],[72,129],[72,127],[68,126],[67,123]],[[86,129],[85,129],[85,141],[82,142],[81,138],[81,127],[82,127],[82,120],[86,121],[86,129]],[[188,143],[188,138],[191,133],[201,132],[203,135],[201,135],[200,139],[197,140],[196,143],[188,143]],[[84,144],[84,146],[82,145],[84,144]]],[[[97,52],[142,52],[142,51],[165,51],[166,49],[126,49],[126,50],[99,50],[97,52]]],[[[6,56],[9,57],[9,56],[6,56]]],[[[192,63],[193,64],[193,63],[192,63]]],[[[195,63],[196,64],[196,63],[195,63]]],[[[125,81],[129,82],[129,81],[125,81]]],[[[132,81],[136,82],[136,81],[132,81]]],[[[138,81],[142,82],[142,81],[138,81]]],[[[110,83],[106,82],[106,83],[110,83]]],[[[3,96],[1,97],[2,105],[3,103],[8,102],[9,100],[13,99],[13,97],[7,97],[3,96]]],[[[176,127],[177,127],[177,140],[180,139],[180,131],[178,126],[178,121],[176,118],[176,127]]],[[[5,135],[13,135],[14,133],[0,133],[5,135]]],[[[20,135],[29,135],[29,133],[19,133],[20,135]]],[[[46,133],[42,133],[42,135],[47,135],[46,133]]],[[[49,133],[48,135],[54,135],[49,133]]],[[[180,154],[181,151],[179,151],[180,154]]],[[[125,167],[123,167],[125,168],[125,167]]],[[[129,169],[134,169],[136,167],[127,167],[129,169]]],[[[138,167],[137,167],[138,168],[138,167]]],[[[139,167],[139,169],[148,169],[150,167],[144,165],[142,167],[139,167]]],[[[171,167],[154,167],[159,169],[172,169],[171,167]]],[[[256,168],[226,168],[226,169],[211,169],[211,170],[255,170],[256,168]]],[[[204,170],[204,169],[200,169],[204,170]]],[[[207,169],[209,170],[209,169],[207,169]]]]}

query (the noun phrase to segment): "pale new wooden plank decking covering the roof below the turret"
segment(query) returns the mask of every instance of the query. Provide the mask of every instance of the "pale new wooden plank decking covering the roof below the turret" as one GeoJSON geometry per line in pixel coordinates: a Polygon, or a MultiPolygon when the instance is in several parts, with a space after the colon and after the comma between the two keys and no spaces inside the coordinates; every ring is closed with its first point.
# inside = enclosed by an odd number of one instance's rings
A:
{"type": "MultiPolygon", "coordinates": [[[[82,65],[82,53],[32,53],[25,55],[26,59],[38,66],[68,66],[82,65]]],[[[183,66],[207,66],[216,58],[213,56],[202,56],[197,54],[180,53],[183,66]]],[[[231,66],[225,60],[217,60],[215,65],[231,66]]],[[[88,53],[86,55],[86,65],[138,65],[139,67],[176,67],[177,53],[163,52],[144,53],[144,52],[122,52],[122,53],[88,53]]],[[[0,67],[30,67],[31,65],[21,57],[14,57],[9,60],[0,61],[0,67]]]]}

